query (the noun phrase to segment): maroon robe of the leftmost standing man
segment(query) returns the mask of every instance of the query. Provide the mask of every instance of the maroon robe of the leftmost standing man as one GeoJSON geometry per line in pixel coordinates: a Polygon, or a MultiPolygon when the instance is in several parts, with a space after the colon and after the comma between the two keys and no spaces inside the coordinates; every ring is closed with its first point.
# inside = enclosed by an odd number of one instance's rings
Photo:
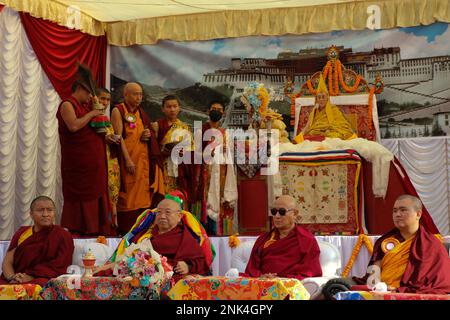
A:
{"type": "Polygon", "coordinates": [[[70,132],[61,116],[69,101],[77,118],[91,111],[73,96],[61,102],[57,118],[61,142],[61,175],[64,207],[61,226],[82,234],[110,234],[108,167],[104,136],[89,125],[70,132]]]}

